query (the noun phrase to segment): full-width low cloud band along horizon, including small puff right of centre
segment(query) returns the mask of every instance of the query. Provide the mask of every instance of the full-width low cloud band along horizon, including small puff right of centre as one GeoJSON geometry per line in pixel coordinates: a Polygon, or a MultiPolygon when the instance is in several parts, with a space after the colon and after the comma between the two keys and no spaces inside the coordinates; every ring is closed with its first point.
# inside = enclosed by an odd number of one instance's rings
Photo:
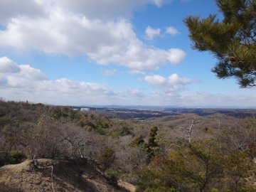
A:
{"type": "MultiPolygon", "coordinates": [[[[9,58],[10,63],[14,63],[9,58]]],[[[3,60],[3,58],[0,58],[3,60]]],[[[111,87],[95,82],[78,82],[60,78],[49,80],[41,70],[29,65],[18,65],[16,73],[0,73],[0,97],[6,100],[28,100],[54,105],[180,105],[180,106],[256,106],[256,96],[221,95],[196,92],[181,95],[183,86],[195,82],[177,74],[165,78],[147,75],[144,81],[158,87],[159,91],[148,92],[139,88],[126,87],[112,90],[111,87]]]]}

